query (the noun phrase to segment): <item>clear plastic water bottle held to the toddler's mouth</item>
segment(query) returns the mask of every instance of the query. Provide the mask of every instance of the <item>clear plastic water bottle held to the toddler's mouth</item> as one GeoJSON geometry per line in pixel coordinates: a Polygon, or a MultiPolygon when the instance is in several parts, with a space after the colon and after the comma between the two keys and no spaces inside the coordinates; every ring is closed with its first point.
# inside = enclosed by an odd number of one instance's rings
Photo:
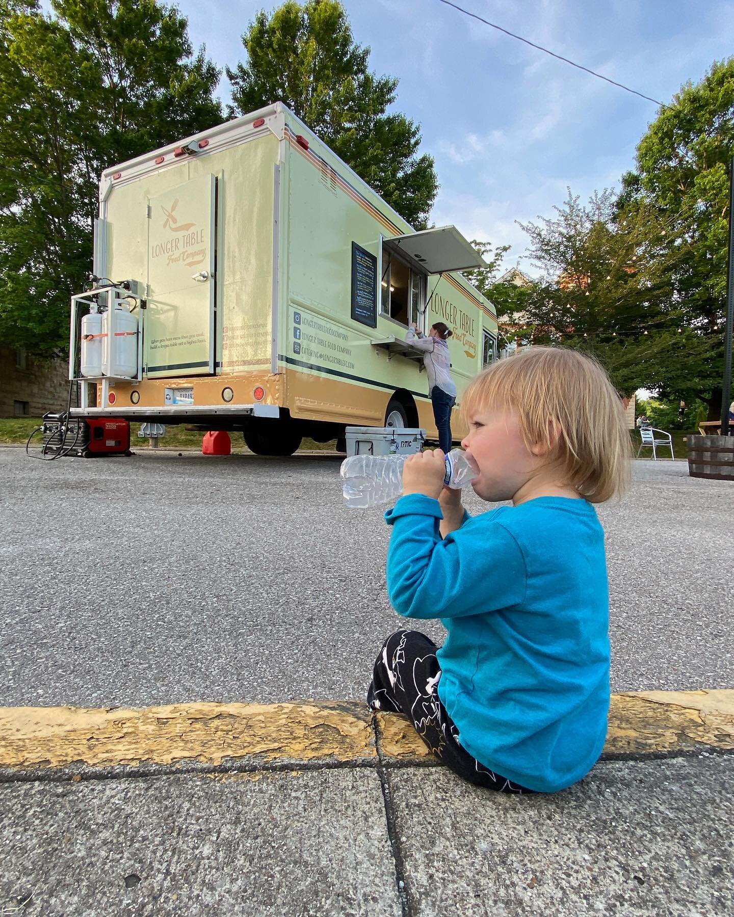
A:
{"type": "MultiPolygon", "coordinates": [[[[367,509],[390,503],[403,492],[403,466],[410,456],[359,455],[345,458],[339,474],[344,481],[344,503],[367,509]]],[[[451,449],[446,456],[446,487],[458,491],[476,476],[462,449],[451,449]]]]}

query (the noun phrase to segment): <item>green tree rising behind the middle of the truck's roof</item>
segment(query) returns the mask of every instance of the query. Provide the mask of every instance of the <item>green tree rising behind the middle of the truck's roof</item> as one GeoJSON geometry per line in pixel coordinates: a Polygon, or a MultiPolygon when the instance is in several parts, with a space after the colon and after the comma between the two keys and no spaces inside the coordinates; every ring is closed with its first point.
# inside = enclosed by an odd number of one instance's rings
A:
{"type": "Polygon", "coordinates": [[[242,36],[247,60],[227,69],[234,113],[281,101],[388,204],[417,228],[438,191],[433,159],[418,155],[420,128],[388,113],[397,80],[368,70],[337,0],[288,0],[261,11],[242,36]]]}

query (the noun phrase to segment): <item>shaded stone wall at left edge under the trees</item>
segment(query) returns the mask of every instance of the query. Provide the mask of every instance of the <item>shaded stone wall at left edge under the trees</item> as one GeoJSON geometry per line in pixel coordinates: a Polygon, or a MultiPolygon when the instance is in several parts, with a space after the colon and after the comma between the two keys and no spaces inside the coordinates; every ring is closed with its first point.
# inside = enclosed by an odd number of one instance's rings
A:
{"type": "MultiPolygon", "coordinates": [[[[0,417],[40,417],[66,410],[69,366],[61,359],[39,359],[24,350],[0,347],[0,417]]],[[[76,400],[72,401],[76,406],[76,400]]]]}

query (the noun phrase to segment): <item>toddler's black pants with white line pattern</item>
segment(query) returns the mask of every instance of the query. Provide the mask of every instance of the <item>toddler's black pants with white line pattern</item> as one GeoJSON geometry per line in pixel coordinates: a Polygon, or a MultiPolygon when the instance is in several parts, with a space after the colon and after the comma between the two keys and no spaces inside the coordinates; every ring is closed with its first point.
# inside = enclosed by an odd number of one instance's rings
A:
{"type": "Polygon", "coordinates": [[[485,768],[459,745],[459,730],[439,700],[439,647],[419,631],[389,636],[375,659],[367,703],[373,710],[405,713],[436,757],[464,780],[503,793],[531,793],[485,768]]]}

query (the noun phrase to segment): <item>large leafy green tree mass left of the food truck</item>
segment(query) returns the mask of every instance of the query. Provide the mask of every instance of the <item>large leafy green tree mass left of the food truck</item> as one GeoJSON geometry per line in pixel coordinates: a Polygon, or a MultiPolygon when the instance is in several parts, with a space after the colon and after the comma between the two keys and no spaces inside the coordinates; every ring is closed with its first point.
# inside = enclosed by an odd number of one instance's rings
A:
{"type": "Polygon", "coordinates": [[[154,0],[0,0],[0,339],[68,346],[101,171],[221,121],[218,72],[154,0]]]}

